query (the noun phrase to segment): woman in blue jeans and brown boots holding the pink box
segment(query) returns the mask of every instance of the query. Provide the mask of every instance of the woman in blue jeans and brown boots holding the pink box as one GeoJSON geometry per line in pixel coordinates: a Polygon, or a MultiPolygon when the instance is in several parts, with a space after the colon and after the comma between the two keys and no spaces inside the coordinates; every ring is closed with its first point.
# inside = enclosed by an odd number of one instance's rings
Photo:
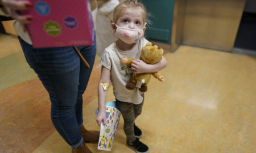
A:
{"type": "MultiPolygon", "coordinates": [[[[118,0],[90,0],[94,22],[97,11],[111,13],[118,0]]],[[[86,69],[72,47],[34,49],[24,24],[33,22],[30,15],[18,11],[31,9],[30,1],[0,0],[0,15],[16,19],[14,29],[24,56],[46,88],[51,100],[51,119],[58,133],[72,148],[72,152],[91,152],[85,143],[97,143],[99,131],[88,131],[83,126],[82,94],[86,89],[96,55],[96,42],[90,46],[77,46],[88,62],[86,69]]],[[[94,38],[96,40],[96,38],[94,38]]],[[[39,108],[40,109],[40,108],[39,108]]]]}

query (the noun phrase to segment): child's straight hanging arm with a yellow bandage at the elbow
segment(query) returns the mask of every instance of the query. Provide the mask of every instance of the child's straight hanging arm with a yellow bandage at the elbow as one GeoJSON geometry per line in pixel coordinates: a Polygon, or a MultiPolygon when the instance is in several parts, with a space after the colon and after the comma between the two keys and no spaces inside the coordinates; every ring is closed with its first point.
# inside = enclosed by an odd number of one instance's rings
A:
{"type": "Polygon", "coordinates": [[[105,90],[102,84],[109,84],[110,79],[110,70],[106,69],[106,67],[102,66],[101,68],[101,78],[98,83],[98,115],[96,117],[96,121],[99,126],[101,126],[101,122],[103,121],[103,125],[106,125],[106,96],[108,94],[108,90],[105,90]]]}

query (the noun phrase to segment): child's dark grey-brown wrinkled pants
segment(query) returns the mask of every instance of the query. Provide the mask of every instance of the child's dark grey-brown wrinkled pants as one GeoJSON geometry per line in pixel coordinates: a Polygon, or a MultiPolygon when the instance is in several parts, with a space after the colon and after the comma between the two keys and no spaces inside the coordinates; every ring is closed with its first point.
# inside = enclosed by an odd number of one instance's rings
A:
{"type": "MultiPolygon", "coordinates": [[[[142,95],[144,97],[144,94],[142,95]]],[[[126,134],[126,139],[128,141],[135,141],[134,135],[134,122],[135,118],[137,118],[142,112],[142,106],[144,103],[144,99],[141,104],[135,105],[132,103],[126,103],[123,101],[116,100],[116,105],[119,111],[123,116],[123,120],[125,124],[123,125],[123,130],[126,134]]]]}

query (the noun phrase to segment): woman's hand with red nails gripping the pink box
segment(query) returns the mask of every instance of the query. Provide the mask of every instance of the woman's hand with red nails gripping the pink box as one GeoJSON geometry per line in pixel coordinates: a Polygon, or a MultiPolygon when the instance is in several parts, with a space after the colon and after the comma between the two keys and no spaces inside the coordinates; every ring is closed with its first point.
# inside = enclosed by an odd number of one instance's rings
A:
{"type": "Polygon", "coordinates": [[[20,15],[18,11],[29,10],[32,7],[30,1],[16,1],[16,0],[0,0],[2,5],[5,6],[9,15],[18,20],[22,24],[31,23],[33,18],[31,15],[20,15]]]}

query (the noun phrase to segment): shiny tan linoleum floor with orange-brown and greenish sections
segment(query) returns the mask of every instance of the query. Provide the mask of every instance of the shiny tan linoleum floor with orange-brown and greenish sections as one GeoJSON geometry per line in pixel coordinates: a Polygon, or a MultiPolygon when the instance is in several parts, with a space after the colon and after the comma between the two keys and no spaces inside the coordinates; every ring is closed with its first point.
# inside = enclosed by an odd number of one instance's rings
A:
{"type": "MultiPolygon", "coordinates": [[[[0,152],[71,152],[18,40],[0,34],[0,46],[0,152]]],[[[151,79],[136,121],[150,152],[256,152],[256,58],[185,45],[164,57],[166,81],[151,79]]],[[[98,60],[84,94],[84,125],[96,130],[98,60]]],[[[121,118],[111,152],[133,152],[125,143],[121,118]]]]}

